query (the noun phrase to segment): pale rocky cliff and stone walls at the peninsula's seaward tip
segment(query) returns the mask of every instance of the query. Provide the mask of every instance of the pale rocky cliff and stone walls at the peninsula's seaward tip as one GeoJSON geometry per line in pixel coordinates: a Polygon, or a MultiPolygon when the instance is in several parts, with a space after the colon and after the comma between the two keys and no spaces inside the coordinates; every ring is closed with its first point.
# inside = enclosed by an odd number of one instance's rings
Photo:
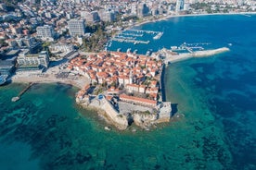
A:
{"type": "Polygon", "coordinates": [[[81,101],[81,99],[76,98],[76,103],[81,105],[84,109],[96,111],[109,125],[119,130],[125,130],[132,124],[139,128],[149,129],[156,124],[170,122],[172,118],[171,103],[165,104],[165,107],[163,106],[165,109],[167,109],[167,105],[170,106],[170,108],[166,110],[166,113],[168,112],[167,114],[162,113],[162,110],[159,110],[158,113],[139,112],[135,110],[134,113],[120,113],[106,98],[101,99],[100,102],[94,98],[90,103],[88,103],[88,100],[83,99],[83,101],[81,101]]]}

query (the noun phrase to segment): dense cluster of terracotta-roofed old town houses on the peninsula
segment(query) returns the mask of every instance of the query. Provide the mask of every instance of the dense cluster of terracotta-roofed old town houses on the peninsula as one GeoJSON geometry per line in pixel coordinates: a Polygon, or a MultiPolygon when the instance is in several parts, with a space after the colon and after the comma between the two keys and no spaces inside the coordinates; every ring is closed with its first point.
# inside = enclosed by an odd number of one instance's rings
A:
{"type": "Polygon", "coordinates": [[[109,94],[119,95],[116,88],[123,86],[128,93],[147,93],[157,100],[162,62],[152,57],[101,52],[73,58],[68,68],[91,79],[93,84],[109,85],[109,94]]]}

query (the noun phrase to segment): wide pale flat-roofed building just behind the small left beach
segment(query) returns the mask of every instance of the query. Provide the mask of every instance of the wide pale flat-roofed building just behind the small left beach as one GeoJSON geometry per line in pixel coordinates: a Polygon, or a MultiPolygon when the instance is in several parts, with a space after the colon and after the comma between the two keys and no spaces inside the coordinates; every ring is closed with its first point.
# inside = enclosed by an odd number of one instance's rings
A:
{"type": "Polygon", "coordinates": [[[46,51],[31,55],[29,50],[24,50],[17,58],[19,67],[48,67],[49,55],[46,51]]]}

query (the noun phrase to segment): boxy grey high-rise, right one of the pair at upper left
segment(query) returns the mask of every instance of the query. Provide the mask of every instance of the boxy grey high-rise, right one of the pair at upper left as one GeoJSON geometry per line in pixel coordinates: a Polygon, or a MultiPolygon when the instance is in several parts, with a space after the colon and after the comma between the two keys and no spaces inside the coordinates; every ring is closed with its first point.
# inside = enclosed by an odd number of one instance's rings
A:
{"type": "Polygon", "coordinates": [[[83,36],[85,34],[85,21],[83,19],[71,19],[68,22],[70,36],[83,36]]]}

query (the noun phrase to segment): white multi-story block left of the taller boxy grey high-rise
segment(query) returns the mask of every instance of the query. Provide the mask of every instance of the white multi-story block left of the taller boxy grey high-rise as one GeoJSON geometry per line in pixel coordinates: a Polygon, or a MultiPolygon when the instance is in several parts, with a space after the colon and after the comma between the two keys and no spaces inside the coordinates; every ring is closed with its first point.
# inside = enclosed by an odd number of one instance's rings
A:
{"type": "Polygon", "coordinates": [[[54,30],[51,26],[45,25],[36,28],[38,38],[44,41],[54,41],[54,30]]]}

